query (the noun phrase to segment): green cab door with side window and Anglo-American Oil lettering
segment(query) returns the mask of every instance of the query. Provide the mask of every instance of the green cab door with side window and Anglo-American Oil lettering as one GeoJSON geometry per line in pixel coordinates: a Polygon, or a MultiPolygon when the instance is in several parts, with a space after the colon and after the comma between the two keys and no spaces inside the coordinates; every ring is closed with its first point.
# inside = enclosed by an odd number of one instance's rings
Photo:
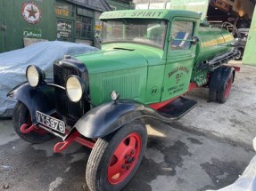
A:
{"type": "Polygon", "coordinates": [[[169,47],[161,101],[187,92],[194,66],[195,46],[191,44],[196,20],[174,18],[170,23],[169,47]]]}

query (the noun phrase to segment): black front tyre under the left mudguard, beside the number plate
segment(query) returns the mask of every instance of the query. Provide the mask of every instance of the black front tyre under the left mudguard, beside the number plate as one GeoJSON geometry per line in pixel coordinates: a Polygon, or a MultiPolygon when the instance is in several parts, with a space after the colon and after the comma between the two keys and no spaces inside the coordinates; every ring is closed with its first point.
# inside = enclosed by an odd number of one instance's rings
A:
{"type": "Polygon", "coordinates": [[[13,109],[12,123],[14,131],[16,131],[21,139],[24,139],[30,143],[43,143],[49,139],[54,139],[54,135],[39,128],[36,128],[35,130],[26,134],[21,132],[22,124],[27,123],[28,126],[32,125],[29,109],[21,101],[18,101],[13,109]]]}

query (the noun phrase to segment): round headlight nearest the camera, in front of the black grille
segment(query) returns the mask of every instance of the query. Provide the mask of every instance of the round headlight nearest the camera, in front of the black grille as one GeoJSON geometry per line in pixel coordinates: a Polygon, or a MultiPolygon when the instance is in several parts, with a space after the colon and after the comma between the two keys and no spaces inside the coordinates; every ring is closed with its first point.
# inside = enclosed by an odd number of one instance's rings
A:
{"type": "Polygon", "coordinates": [[[73,102],[78,102],[85,92],[85,84],[78,76],[69,76],[66,82],[66,92],[73,102]]]}

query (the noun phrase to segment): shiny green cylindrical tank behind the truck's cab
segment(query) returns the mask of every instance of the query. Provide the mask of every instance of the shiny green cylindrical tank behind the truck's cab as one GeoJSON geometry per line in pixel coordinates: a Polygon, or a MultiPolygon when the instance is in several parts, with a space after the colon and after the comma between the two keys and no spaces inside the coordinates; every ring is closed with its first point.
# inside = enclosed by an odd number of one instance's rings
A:
{"type": "Polygon", "coordinates": [[[216,56],[231,52],[234,37],[227,30],[213,27],[199,28],[199,43],[196,45],[195,63],[211,60],[216,56]]]}

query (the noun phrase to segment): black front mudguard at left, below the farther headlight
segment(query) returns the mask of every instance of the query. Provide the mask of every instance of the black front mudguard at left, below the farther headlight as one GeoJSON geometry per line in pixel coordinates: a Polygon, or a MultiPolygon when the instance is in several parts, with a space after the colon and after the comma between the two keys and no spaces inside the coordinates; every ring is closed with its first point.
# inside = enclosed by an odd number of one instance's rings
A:
{"type": "Polygon", "coordinates": [[[36,111],[50,115],[55,108],[54,87],[41,84],[33,88],[29,83],[22,83],[7,94],[10,99],[18,99],[29,108],[33,124],[37,124],[36,111]]]}

